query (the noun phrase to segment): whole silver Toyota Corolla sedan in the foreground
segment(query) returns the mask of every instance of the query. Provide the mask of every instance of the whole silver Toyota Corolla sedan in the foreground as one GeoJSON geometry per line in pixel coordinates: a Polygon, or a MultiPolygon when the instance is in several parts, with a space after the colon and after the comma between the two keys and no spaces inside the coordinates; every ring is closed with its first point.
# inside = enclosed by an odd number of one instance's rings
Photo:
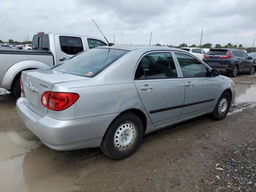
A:
{"type": "Polygon", "coordinates": [[[104,46],[46,69],[22,72],[18,115],[55,150],[99,147],[130,156],[144,134],[211,114],[223,119],[233,81],[187,51],[104,46]]]}

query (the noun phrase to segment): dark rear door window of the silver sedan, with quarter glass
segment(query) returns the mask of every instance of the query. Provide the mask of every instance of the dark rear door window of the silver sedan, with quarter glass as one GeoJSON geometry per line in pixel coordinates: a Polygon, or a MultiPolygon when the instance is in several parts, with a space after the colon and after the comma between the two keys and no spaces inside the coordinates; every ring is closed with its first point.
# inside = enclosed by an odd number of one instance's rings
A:
{"type": "Polygon", "coordinates": [[[146,74],[146,78],[154,79],[177,77],[172,55],[169,52],[164,52],[150,53],[144,56],[135,72],[135,79],[145,78],[144,74],[146,74]]]}

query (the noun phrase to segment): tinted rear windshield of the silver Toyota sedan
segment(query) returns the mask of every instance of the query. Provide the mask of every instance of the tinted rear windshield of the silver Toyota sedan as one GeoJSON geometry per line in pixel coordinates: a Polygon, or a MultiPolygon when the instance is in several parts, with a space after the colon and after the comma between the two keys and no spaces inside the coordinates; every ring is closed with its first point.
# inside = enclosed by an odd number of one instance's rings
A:
{"type": "Polygon", "coordinates": [[[69,74],[93,77],[129,51],[94,48],[73,56],[52,69],[69,74]]]}

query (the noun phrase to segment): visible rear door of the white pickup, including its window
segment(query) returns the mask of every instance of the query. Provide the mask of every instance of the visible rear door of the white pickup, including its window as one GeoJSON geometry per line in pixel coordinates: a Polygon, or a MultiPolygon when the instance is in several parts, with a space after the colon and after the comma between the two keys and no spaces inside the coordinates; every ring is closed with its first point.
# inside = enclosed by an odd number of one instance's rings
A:
{"type": "Polygon", "coordinates": [[[76,35],[54,35],[57,63],[86,50],[84,38],[76,35]]]}

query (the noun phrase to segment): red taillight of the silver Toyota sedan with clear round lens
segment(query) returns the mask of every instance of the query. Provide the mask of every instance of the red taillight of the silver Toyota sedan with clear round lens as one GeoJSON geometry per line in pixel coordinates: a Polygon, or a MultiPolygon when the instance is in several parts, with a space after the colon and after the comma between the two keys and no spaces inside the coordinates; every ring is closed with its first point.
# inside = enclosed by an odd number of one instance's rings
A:
{"type": "Polygon", "coordinates": [[[78,98],[76,93],[46,91],[42,94],[41,103],[50,110],[62,111],[74,104],[78,98]]]}

